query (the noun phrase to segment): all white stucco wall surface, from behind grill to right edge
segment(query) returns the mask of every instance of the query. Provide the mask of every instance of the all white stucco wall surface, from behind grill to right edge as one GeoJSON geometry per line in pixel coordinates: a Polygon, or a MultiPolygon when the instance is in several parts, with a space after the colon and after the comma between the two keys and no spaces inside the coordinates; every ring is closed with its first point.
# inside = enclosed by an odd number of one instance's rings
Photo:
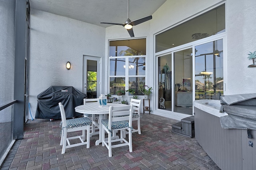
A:
{"type": "MultiPolygon", "coordinates": [[[[188,0],[167,0],[152,14],[152,20],[134,26],[134,38],[147,38],[147,68],[155,66],[155,34],[222,2],[225,1],[197,0],[195,3],[188,0]]],[[[255,6],[255,0],[226,1],[225,95],[255,93],[256,68],[248,68],[252,61],[247,59],[248,51],[256,50],[255,6]]],[[[33,9],[31,10],[30,28],[29,100],[33,114],[36,109],[36,96],[51,85],[71,85],[82,91],[82,55],[105,57],[102,58],[102,82],[107,83],[108,69],[104,65],[108,63],[108,40],[130,38],[127,30],[122,26],[105,29],[33,9]],[[65,68],[67,61],[72,64],[70,70],[65,68]]],[[[154,69],[146,70],[147,85],[155,87],[154,75],[154,69]]],[[[102,90],[108,91],[107,84],[102,85],[102,90]]],[[[155,93],[156,90],[153,91],[152,96],[155,93]]],[[[151,106],[154,106],[155,102],[151,100],[151,106]]],[[[178,119],[178,115],[176,116],[178,119]]]]}

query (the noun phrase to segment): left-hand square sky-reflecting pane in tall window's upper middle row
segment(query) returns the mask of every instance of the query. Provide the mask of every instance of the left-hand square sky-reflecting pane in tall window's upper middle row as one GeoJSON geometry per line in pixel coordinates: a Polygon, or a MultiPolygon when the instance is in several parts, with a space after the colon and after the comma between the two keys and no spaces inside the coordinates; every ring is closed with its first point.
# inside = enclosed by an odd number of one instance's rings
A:
{"type": "Polygon", "coordinates": [[[110,59],[110,75],[125,75],[125,58],[110,59]]]}

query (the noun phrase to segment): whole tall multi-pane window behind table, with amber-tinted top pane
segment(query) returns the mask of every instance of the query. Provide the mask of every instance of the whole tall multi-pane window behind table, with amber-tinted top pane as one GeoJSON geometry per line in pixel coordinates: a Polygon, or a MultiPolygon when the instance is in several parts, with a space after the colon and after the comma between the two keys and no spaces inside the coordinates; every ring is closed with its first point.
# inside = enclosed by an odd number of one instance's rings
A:
{"type": "Polygon", "coordinates": [[[134,89],[134,95],[142,95],[140,89],[144,88],[146,75],[146,39],[110,41],[109,44],[110,94],[134,89]]]}

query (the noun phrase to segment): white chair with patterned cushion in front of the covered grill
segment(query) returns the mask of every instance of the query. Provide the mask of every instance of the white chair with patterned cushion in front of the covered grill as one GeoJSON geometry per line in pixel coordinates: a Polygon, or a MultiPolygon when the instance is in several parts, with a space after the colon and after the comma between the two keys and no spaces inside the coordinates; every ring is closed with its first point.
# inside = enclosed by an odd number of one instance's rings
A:
{"type": "Polygon", "coordinates": [[[88,117],[80,117],[76,119],[67,119],[64,107],[61,103],[59,103],[60,114],[61,114],[61,140],[60,145],[62,145],[62,154],[65,153],[66,148],[71,148],[75,146],[80,146],[86,144],[86,148],[90,148],[90,125],[92,125],[92,121],[88,119],[88,117]],[[68,132],[75,132],[82,130],[82,136],[73,136],[67,137],[68,132]],[[86,141],[85,140],[85,130],[87,130],[86,141]],[[80,139],[80,143],[70,144],[71,139],[80,139]],[[68,146],[66,143],[68,142],[68,146]]]}

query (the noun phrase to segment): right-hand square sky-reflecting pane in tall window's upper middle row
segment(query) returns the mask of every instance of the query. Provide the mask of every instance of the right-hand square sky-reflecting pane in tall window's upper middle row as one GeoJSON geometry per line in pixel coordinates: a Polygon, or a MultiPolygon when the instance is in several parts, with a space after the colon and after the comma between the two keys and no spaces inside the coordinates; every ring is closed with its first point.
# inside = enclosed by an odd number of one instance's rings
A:
{"type": "Polygon", "coordinates": [[[145,57],[129,58],[129,75],[145,75],[145,57]]]}

